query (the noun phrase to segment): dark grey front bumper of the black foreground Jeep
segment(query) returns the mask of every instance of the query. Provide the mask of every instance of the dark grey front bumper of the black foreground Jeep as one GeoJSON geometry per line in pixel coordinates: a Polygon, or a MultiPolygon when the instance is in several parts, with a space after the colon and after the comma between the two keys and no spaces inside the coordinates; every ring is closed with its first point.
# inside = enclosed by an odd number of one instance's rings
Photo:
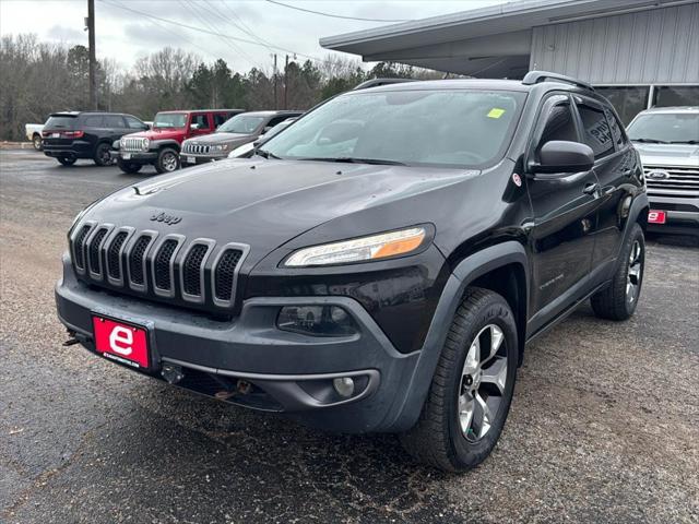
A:
{"type": "Polygon", "coordinates": [[[95,353],[92,317],[105,315],[149,330],[152,368],[181,369],[177,383],[227,402],[284,412],[307,425],[343,432],[394,430],[419,352],[399,353],[367,311],[348,297],[251,298],[230,321],[109,294],[80,283],[64,260],[56,286],[58,315],[95,353]],[[282,306],[334,305],[354,319],[348,336],[317,337],[276,329],[282,306]],[[343,398],[334,378],[351,377],[343,398]],[[244,388],[240,388],[240,384],[244,388]],[[247,385],[251,384],[250,389],[247,385]]]}

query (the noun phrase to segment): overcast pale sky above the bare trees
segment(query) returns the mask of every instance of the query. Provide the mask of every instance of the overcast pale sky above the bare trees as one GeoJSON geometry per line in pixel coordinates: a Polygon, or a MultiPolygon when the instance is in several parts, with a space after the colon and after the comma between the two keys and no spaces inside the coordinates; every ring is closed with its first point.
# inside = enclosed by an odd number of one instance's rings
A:
{"type": "MultiPolygon", "coordinates": [[[[303,9],[379,20],[415,20],[505,3],[505,0],[281,1],[303,9]]],[[[114,58],[125,68],[165,46],[191,50],[205,61],[223,58],[237,71],[253,66],[270,70],[270,55],[274,51],[284,60],[284,51],[279,49],[204,34],[149,15],[256,40],[248,32],[282,48],[321,58],[330,51],[318,45],[320,37],[388,25],[388,22],[322,16],[266,0],[96,0],[95,10],[97,57],[114,58]]],[[[87,33],[83,31],[86,15],[86,0],[0,0],[0,32],[36,33],[43,40],[86,46],[87,33]]]]}

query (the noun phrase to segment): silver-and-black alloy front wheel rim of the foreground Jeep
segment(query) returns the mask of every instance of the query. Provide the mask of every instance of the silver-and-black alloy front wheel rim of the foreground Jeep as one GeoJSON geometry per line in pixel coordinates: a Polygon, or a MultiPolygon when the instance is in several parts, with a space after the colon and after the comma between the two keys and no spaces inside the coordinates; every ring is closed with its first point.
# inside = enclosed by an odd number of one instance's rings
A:
{"type": "Polygon", "coordinates": [[[487,434],[505,395],[507,343],[496,324],[483,327],[473,340],[459,385],[459,425],[463,437],[476,442],[487,434]]]}

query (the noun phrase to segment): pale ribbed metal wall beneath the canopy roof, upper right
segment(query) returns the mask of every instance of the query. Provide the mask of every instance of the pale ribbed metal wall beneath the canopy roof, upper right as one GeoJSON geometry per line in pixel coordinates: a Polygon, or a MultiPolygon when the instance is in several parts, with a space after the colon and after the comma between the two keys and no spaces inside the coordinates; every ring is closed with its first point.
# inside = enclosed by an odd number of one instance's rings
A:
{"type": "Polygon", "coordinates": [[[699,84],[699,1],[534,27],[530,69],[593,84],[699,84]]]}

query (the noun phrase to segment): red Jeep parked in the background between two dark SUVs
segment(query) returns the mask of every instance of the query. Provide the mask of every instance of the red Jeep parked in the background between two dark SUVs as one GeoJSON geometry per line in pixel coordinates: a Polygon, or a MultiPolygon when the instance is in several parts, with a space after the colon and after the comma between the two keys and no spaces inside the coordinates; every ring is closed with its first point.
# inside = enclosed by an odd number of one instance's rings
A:
{"type": "Polygon", "coordinates": [[[145,164],[157,172],[179,168],[182,141],[213,133],[218,126],[245,109],[197,109],[161,111],[155,116],[153,129],[127,134],[114,147],[111,155],[123,172],[138,172],[145,164]]]}

